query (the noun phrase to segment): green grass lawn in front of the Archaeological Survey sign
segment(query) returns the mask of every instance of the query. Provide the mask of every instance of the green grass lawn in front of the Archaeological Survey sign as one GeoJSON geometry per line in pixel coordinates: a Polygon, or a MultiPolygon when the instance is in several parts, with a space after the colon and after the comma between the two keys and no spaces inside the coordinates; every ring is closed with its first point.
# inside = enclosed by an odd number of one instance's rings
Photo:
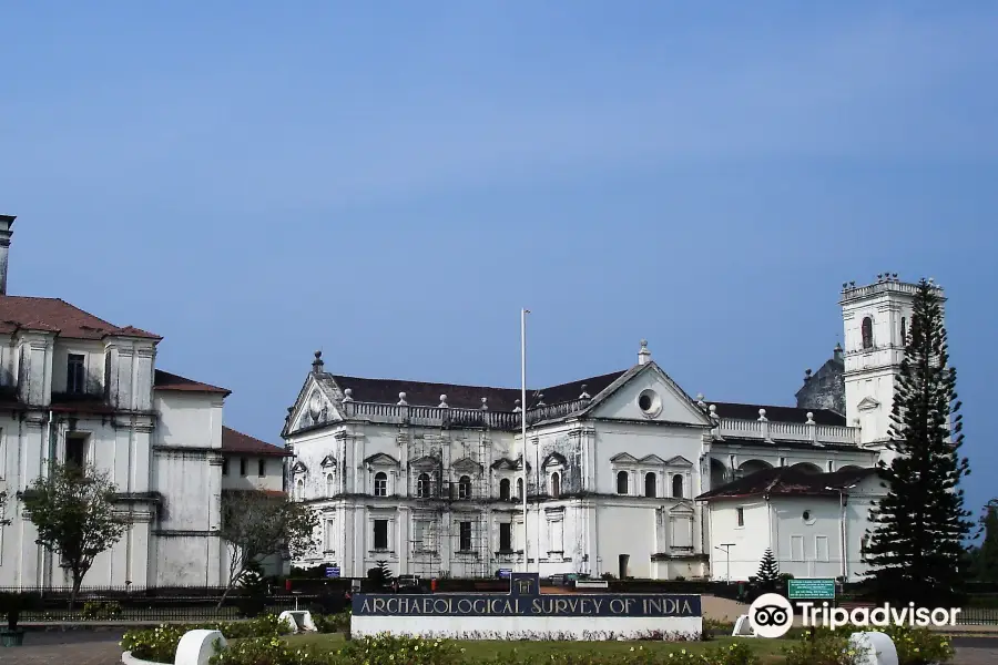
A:
{"type": "MultiPolygon", "coordinates": [[[[329,649],[337,648],[343,643],[343,635],[306,634],[288,635],[285,637],[289,645],[316,644],[329,649]]],[[[670,652],[702,652],[716,647],[723,647],[733,642],[744,642],[752,651],[762,657],[765,663],[782,663],[782,648],[791,643],[788,640],[762,640],[744,637],[717,637],[710,642],[501,642],[501,641],[457,641],[457,645],[465,649],[465,655],[487,661],[497,656],[510,654],[516,651],[521,655],[547,656],[553,653],[574,652],[598,653],[601,655],[622,654],[633,648],[645,648],[656,654],[670,652]]]]}

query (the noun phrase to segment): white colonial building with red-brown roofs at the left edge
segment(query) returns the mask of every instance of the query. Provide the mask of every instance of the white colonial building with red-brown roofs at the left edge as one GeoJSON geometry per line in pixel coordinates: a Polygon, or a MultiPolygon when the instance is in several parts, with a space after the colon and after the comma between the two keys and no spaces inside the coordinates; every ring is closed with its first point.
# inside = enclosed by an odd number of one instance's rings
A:
{"type": "Polygon", "coordinates": [[[0,518],[10,520],[0,525],[0,586],[71,584],[18,500],[53,460],[108,472],[130,521],[84,587],[220,584],[225,460],[252,460],[254,474],[266,471],[254,480],[279,490],[283,449],[223,427],[228,390],[159,369],[157,335],[58,298],[8,296],[13,221],[0,216],[0,518]]]}

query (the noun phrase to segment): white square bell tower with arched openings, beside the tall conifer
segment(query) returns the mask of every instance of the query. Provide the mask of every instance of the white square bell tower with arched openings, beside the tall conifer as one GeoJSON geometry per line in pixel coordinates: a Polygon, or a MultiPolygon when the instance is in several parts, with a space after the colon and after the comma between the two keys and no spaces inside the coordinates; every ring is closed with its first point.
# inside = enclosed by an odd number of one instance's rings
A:
{"type": "MultiPolygon", "coordinates": [[[[934,286],[941,298],[941,287],[934,286]]],[[[890,431],[895,380],[917,293],[918,286],[900,282],[897,273],[877,275],[876,283],[866,286],[856,286],[855,282],[842,285],[846,423],[859,427],[860,443],[879,449],[880,459],[888,463],[893,453],[885,442],[890,431]]]]}

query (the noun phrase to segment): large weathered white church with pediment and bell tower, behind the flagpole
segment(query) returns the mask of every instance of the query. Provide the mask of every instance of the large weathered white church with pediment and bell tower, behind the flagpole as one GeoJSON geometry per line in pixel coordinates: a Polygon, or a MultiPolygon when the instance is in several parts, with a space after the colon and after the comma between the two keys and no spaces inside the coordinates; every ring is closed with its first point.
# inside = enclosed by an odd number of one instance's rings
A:
{"type": "Polygon", "coordinates": [[[794,407],[690,397],[644,341],[633,367],[527,405],[518,388],[332,374],[316,352],[282,434],[288,489],[322,518],[296,564],[746,580],[772,549],[782,572],[855,580],[915,293],[896,275],[843,285],[845,348],[794,407]]]}

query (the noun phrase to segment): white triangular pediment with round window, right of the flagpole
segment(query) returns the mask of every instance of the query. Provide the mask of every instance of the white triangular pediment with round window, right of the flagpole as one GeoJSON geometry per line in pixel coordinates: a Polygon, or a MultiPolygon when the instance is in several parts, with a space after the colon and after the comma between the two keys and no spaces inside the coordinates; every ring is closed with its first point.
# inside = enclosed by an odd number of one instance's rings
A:
{"type": "Polygon", "coordinates": [[[654,362],[625,371],[584,412],[598,419],[713,427],[710,417],[654,362]]]}

